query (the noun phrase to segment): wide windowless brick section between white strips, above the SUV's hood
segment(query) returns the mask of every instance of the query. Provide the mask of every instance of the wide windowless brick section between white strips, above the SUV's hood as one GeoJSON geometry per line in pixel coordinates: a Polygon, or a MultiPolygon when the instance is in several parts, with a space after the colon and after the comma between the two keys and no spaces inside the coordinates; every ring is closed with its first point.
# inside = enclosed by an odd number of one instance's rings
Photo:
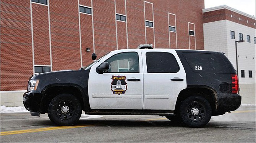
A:
{"type": "Polygon", "coordinates": [[[50,0],[52,70],[81,67],[78,1],[50,0]]]}

